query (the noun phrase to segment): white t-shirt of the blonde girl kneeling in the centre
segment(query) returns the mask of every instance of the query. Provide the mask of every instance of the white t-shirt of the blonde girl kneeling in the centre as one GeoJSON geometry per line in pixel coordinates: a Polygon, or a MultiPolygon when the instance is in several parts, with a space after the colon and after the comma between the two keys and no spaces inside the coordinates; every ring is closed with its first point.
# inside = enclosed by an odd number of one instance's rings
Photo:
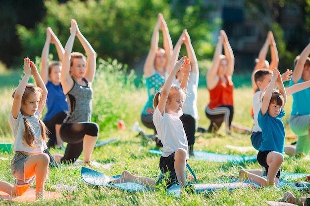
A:
{"type": "Polygon", "coordinates": [[[182,110],[178,114],[168,114],[163,112],[161,115],[158,107],[153,114],[153,122],[156,127],[158,137],[162,143],[162,157],[168,157],[179,148],[186,150],[186,160],[188,156],[188,142],[180,117],[182,110]]]}

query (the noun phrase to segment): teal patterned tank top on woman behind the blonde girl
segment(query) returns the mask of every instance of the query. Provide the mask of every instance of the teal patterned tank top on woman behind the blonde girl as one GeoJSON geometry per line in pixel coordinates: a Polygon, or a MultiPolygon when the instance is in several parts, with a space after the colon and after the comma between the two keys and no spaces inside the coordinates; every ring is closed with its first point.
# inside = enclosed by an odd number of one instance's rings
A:
{"type": "Polygon", "coordinates": [[[152,75],[151,77],[145,78],[145,81],[148,89],[149,98],[147,103],[143,107],[142,114],[150,115],[150,113],[148,113],[147,110],[148,109],[154,110],[153,108],[154,96],[156,92],[160,90],[160,86],[165,82],[165,79],[158,72],[155,72],[155,74],[152,75]]]}

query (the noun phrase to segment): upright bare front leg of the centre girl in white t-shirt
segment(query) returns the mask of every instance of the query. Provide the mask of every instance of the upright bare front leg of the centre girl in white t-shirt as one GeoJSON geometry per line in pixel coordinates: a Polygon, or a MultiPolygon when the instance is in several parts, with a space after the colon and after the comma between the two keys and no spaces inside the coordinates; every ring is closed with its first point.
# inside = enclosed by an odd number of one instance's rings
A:
{"type": "Polygon", "coordinates": [[[186,185],[186,151],[184,149],[179,148],[174,152],[174,169],[181,188],[184,188],[186,185]]]}

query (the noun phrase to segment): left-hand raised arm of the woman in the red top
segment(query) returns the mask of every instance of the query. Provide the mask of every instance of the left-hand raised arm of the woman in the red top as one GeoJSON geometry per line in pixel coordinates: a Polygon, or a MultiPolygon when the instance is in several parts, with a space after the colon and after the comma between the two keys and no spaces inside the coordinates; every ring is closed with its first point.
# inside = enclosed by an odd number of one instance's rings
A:
{"type": "Polygon", "coordinates": [[[215,51],[213,54],[212,65],[211,65],[211,68],[207,72],[207,88],[209,90],[213,89],[219,80],[217,71],[219,68],[219,64],[221,62],[220,55],[222,54],[222,51],[223,51],[223,35],[220,33],[220,36],[218,37],[218,42],[217,42],[217,45],[215,47],[215,51]]]}

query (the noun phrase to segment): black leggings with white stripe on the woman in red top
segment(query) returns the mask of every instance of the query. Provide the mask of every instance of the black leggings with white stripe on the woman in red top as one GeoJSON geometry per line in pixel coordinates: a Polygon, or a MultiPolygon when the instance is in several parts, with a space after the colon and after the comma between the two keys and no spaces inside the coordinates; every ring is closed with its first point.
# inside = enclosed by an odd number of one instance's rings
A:
{"type": "Polygon", "coordinates": [[[226,133],[230,133],[230,125],[234,116],[234,106],[221,105],[212,110],[207,106],[206,115],[211,121],[208,132],[216,132],[222,123],[225,122],[226,133]]]}

